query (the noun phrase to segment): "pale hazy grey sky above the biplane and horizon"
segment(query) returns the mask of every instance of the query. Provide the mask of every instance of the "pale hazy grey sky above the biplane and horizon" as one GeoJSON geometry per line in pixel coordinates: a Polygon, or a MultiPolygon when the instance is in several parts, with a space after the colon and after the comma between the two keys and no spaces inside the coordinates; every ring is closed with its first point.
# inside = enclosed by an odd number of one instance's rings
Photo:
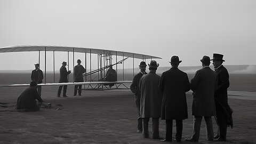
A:
{"type": "MultiPolygon", "coordinates": [[[[181,66],[198,66],[203,55],[221,53],[225,65],[256,65],[255,7],[256,1],[245,0],[1,0],[0,47],[118,50],[162,57],[160,66],[170,66],[172,55],[179,55],[181,66]]],[[[33,69],[38,52],[0,53],[0,61],[0,70],[33,69]]]]}

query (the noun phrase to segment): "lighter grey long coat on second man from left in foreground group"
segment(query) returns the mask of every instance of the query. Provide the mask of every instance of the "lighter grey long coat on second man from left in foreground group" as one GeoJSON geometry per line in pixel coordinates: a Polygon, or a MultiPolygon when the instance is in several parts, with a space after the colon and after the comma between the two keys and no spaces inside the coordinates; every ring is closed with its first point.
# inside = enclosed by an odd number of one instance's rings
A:
{"type": "Polygon", "coordinates": [[[149,72],[140,78],[140,116],[141,118],[161,117],[162,93],[158,84],[160,76],[156,73],[149,72]]]}

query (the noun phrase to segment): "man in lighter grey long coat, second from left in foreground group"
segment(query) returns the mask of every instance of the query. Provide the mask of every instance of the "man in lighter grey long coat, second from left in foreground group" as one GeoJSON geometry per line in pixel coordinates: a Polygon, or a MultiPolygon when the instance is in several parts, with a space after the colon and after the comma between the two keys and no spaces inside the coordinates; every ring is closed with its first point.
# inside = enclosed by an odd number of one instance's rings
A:
{"type": "Polygon", "coordinates": [[[152,118],[153,139],[159,137],[159,117],[161,117],[162,93],[158,88],[160,76],[156,74],[159,66],[155,60],[150,61],[149,73],[140,78],[139,88],[141,91],[140,117],[142,118],[143,137],[149,138],[148,122],[152,118]]]}

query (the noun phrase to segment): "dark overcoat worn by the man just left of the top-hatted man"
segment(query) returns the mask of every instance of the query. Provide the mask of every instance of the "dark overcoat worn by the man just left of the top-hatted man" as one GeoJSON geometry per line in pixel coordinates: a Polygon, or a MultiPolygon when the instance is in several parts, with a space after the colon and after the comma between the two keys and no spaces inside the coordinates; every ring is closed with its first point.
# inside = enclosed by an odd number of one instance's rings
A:
{"type": "Polygon", "coordinates": [[[210,67],[204,67],[196,71],[191,79],[193,91],[192,115],[215,116],[215,91],[216,75],[210,67]]]}

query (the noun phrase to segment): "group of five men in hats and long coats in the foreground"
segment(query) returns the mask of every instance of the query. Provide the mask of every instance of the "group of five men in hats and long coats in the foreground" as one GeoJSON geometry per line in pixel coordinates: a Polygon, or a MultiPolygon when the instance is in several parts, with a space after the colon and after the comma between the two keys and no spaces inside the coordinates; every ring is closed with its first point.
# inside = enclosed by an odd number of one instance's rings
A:
{"type": "Polygon", "coordinates": [[[156,74],[159,64],[151,60],[149,73],[146,73],[146,62],[140,62],[140,72],[134,76],[130,86],[135,95],[135,104],[138,109],[137,132],[142,132],[144,138],[149,138],[148,122],[153,121],[153,139],[162,139],[159,136],[159,117],[165,119],[166,132],[162,141],[172,141],[173,119],[176,122],[177,133],[175,141],[182,138],[183,119],[188,118],[186,92],[193,91],[192,115],[194,116],[193,135],[185,139],[198,142],[202,117],[207,128],[207,140],[226,141],[227,126],[233,127],[232,110],[228,105],[227,88],[229,74],[223,67],[222,54],[213,54],[213,59],[204,56],[201,59],[202,69],[196,71],[189,82],[188,75],[178,66],[181,60],[178,56],[171,58],[171,69],[162,76],[156,74]],[[210,66],[213,61],[215,71],[210,66]],[[215,72],[215,73],[214,73],[215,72]],[[214,137],[212,116],[217,118],[218,132],[214,137]]]}

